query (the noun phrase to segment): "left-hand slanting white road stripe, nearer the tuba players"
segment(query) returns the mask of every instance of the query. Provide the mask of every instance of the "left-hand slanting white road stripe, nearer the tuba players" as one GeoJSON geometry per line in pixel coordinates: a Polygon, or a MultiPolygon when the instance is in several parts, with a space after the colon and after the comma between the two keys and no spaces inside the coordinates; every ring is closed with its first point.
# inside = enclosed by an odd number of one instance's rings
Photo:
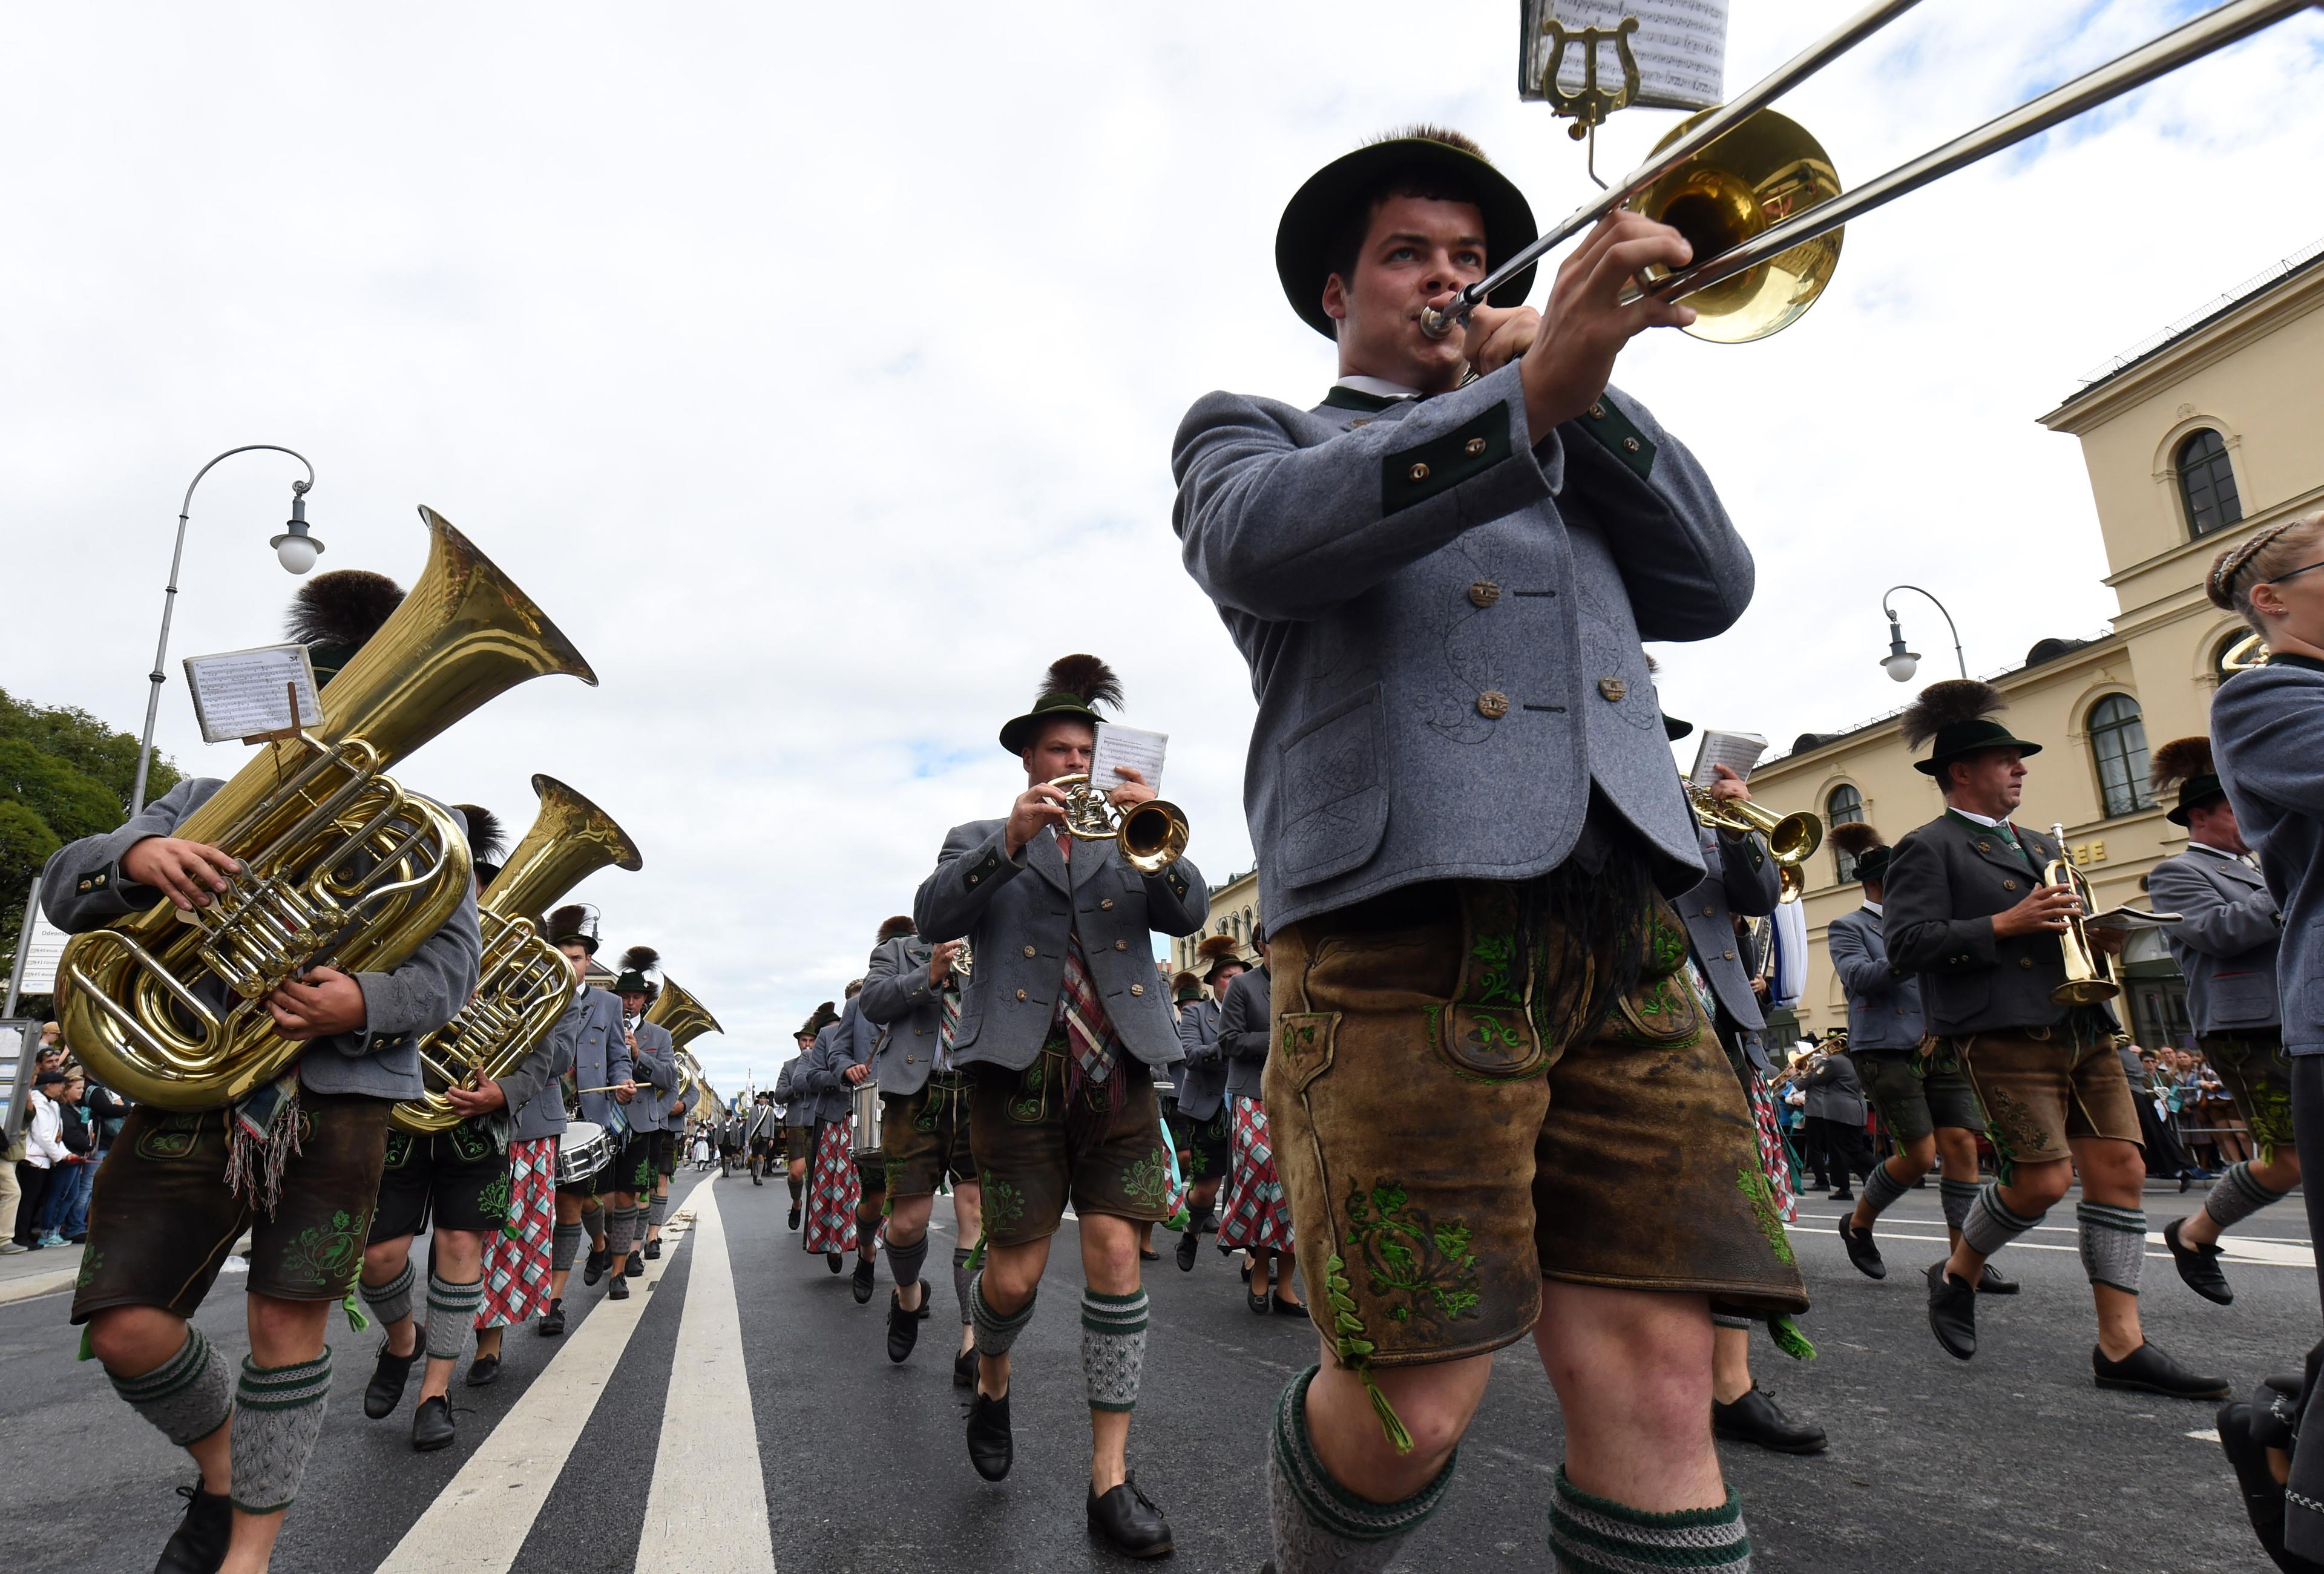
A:
{"type": "MultiPolygon", "coordinates": [[[[723,1246],[720,1260],[725,1260],[723,1246]]],[[[565,1348],[532,1379],[525,1397],[502,1416],[451,1486],[437,1493],[379,1565],[379,1574],[509,1574],[516,1567],[516,1553],[525,1548],[532,1521],[541,1516],[558,1472],[565,1469],[574,1444],[581,1441],[581,1428],[604,1395],[607,1379],[630,1348],[637,1321],[646,1316],[648,1290],[662,1281],[669,1262],[672,1258],[646,1262],[646,1276],[630,1281],[630,1300],[600,1302],[581,1328],[565,1335],[560,1342],[565,1348]]],[[[574,1290],[588,1295],[579,1272],[567,1286],[567,1300],[574,1290]]],[[[507,1337],[530,1335],[511,1328],[507,1337]]]]}

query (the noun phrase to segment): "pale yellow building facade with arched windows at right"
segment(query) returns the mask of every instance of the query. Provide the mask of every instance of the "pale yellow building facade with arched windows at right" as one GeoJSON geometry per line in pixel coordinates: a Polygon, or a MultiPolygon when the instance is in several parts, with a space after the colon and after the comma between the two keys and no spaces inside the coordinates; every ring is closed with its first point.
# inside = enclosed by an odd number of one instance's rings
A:
{"type": "MultiPolygon", "coordinates": [[[[2219,658],[2245,635],[2203,595],[2212,558],[2324,505],[2317,367],[2324,251],[2310,249],[2040,416],[2082,444],[2117,616],[2106,637],[2045,639],[2024,667],[1992,681],[2008,695],[2008,725],[2043,744],[2017,821],[2061,823],[2106,907],[2145,904],[2140,877],[2187,844],[2147,793],[2147,749],[2208,730],[2219,658]]],[[[1945,677],[1950,663],[1924,660],[1913,688],[1945,677]]],[[[1752,797],[1785,814],[1813,809],[1827,823],[1862,818],[1896,842],[1943,809],[1913,758],[1896,716],[1845,735],[1810,732],[1752,772],[1752,797]]],[[[1862,900],[1843,877],[1834,849],[1810,860],[1801,1032],[1848,1023],[1824,953],[1824,925],[1862,900]]],[[[2152,972],[2129,988],[2129,1028],[2147,1044],[2185,1032],[2182,986],[2168,967],[2152,972]]]]}

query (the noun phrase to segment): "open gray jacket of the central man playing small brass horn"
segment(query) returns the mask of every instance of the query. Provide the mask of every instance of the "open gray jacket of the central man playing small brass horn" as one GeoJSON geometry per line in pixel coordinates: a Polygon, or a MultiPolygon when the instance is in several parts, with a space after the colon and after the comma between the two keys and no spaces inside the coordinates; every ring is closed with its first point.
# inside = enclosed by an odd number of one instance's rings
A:
{"type": "Polygon", "coordinates": [[[1139,874],[1113,839],[1076,844],[1067,870],[1046,828],[1011,860],[1004,818],[953,825],[911,907],[930,942],[967,937],[976,953],[953,1063],[1023,1072],[1041,1056],[1074,932],[1122,1046],[1148,1067],[1176,1060],[1178,1030],[1155,976],[1153,937],[1202,928],[1211,914],[1202,870],[1181,858],[1160,874],[1139,874]]]}

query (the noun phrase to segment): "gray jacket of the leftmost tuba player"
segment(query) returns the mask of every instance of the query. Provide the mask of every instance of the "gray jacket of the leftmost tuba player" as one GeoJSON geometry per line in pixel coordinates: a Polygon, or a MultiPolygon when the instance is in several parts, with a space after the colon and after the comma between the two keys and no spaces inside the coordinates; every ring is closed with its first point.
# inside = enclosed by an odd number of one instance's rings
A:
{"type": "MultiPolygon", "coordinates": [[[[67,935],[102,930],[116,918],[139,914],[167,897],[153,886],[139,886],[121,872],[121,856],[146,837],[167,837],[216,790],[216,777],[188,777],[149,802],[119,830],[67,842],[49,856],[40,879],[40,904],[49,923],[67,935]]],[[[453,818],[460,818],[453,811],[453,818]]],[[[476,886],[460,897],[435,935],[390,972],[358,972],[363,988],[363,1028],[328,1039],[314,1039],[297,1056],[300,1086],[316,1093],[360,1093],[367,1097],[421,1097],[423,1035],[449,1023],[476,993],[476,967],[483,937],[476,930],[476,886]]],[[[211,979],[211,1004],[223,1004],[225,983],[211,979]]]]}

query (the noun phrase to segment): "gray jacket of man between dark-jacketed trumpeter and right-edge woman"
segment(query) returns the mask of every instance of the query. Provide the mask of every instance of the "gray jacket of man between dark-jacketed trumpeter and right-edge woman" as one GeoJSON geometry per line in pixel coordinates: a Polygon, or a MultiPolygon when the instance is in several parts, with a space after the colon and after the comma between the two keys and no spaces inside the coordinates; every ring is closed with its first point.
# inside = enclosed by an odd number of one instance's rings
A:
{"type": "Polygon", "coordinates": [[[2147,897],[2154,911],[2180,916],[2164,939],[2187,974],[2187,1014],[2196,1032],[2282,1025],[2275,949],[2284,923],[2266,874],[2240,858],[2189,846],[2147,870],[2147,897]]]}

